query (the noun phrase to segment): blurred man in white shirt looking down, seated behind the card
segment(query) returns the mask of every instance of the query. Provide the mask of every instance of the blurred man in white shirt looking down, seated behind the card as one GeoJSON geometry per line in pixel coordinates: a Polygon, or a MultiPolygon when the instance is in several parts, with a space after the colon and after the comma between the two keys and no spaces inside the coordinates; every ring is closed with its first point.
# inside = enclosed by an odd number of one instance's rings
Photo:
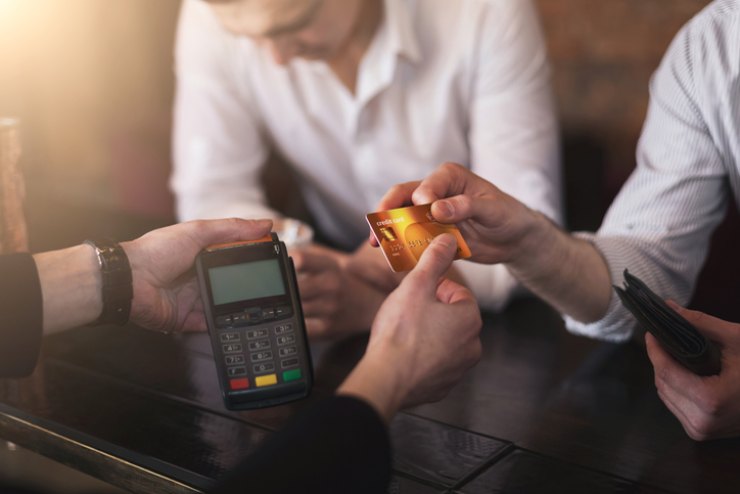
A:
{"type": "MultiPolygon", "coordinates": [[[[561,220],[557,123],[531,0],[185,0],[176,72],[179,218],[277,218],[258,185],[276,150],[322,234],[354,250],[294,253],[313,336],[370,326],[398,279],[365,246],[364,216],[392,184],[440,161],[465,163],[561,220]]],[[[488,309],[517,289],[503,266],[455,271],[488,309]]]]}

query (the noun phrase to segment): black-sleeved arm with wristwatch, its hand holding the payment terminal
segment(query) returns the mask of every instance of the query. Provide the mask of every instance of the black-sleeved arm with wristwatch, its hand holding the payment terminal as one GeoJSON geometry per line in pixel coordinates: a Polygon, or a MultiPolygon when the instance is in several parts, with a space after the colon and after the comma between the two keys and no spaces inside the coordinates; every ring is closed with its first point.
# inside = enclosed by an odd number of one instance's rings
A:
{"type": "MultiPolygon", "coordinates": [[[[193,221],[123,243],[132,272],[130,320],[158,331],[205,330],[195,256],[213,243],[261,237],[271,226],[269,220],[193,221]]],[[[91,323],[103,310],[100,266],[89,245],[1,256],[0,288],[0,376],[28,375],[43,333],[91,323]]]]}

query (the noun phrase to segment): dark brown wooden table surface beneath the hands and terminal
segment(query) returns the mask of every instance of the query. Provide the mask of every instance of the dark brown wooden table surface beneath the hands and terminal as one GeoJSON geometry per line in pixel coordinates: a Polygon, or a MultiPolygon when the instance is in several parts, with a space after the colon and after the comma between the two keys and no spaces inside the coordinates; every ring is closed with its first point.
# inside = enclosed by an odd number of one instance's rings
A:
{"type": "MultiPolygon", "coordinates": [[[[740,489],[740,440],[689,439],[639,345],[570,335],[534,299],[485,315],[482,340],[481,362],[444,400],[392,422],[390,492],[740,489]]],[[[365,343],[313,345],[308,399],[230,412],[207,335],[79,328],[45,339],[31,377],[0,380],[0,436],[134,492],[206,489],[331,393],[365,343]]]]}

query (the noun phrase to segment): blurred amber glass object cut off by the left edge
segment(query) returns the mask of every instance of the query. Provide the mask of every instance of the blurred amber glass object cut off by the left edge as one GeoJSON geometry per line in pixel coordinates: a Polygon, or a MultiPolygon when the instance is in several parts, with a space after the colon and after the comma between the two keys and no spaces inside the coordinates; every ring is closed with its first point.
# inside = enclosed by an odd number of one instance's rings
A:
{"type": "Polygon", "coordinates": [[[0,254],[28,250],[18,120],[0,118],[0,254]]]}

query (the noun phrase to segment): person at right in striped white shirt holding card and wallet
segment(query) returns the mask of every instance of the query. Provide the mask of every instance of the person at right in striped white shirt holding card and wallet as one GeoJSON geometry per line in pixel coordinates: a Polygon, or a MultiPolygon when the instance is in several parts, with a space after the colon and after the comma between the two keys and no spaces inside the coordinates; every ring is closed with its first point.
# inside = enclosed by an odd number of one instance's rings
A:
{"type": "Polygon", "coordinates": [[[637,168],[595,234],[567,234],[453,164],[380,203],[434,202],[432,214],[460,226],[472,259],[506,264],[578,334],[630,338],[635,319],[612,285],[625,268],[639,276],[722,347],[720,374],[700,377],[645,337],[660,398],[697,440],[740,436],[740,323],[678,305],[690,299],[727,208],[740,208],[738,40],[740,0],[710,3],[673,40],[651,81],[637,168]]]}

